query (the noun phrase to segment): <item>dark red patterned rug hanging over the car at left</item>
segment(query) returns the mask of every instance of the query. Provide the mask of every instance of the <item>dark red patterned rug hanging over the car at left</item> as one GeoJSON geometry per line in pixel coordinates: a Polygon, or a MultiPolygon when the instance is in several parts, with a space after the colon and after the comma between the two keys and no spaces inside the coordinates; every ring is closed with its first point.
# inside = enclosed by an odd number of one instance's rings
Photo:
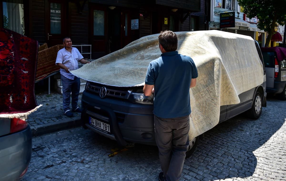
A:
{"type": "Polygon", "coordinates": [[[37,50],[37,41],[0,28],[0,115],[28,112],[37,106],[37,50]]]}

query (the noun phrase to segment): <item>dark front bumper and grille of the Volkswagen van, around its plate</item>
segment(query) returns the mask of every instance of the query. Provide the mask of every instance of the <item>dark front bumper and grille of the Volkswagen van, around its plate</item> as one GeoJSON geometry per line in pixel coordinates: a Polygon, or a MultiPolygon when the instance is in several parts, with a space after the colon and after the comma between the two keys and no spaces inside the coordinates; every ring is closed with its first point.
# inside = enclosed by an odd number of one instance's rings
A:
{"type": "Polygon", "coordinates": [[[152,104],[134,104],[128,100],[100,98],[89,91],[82,94],[81,122],[86,129],[116,140],[120,145],[126,141],[156,145],[152,104]],[[110,133],[96,129],[89,117],[110,125],[110,133]]]}

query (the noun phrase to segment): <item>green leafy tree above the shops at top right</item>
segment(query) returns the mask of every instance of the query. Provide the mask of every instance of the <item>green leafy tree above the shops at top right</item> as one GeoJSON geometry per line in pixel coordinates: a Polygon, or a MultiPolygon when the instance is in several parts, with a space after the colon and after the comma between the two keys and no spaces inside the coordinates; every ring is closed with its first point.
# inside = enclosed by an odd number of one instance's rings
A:
{"type": "Polygon", "coordinates": [[[257,17],[259,22],[257,27],[265,32],[268,36],[265,47],[274,33],[276,23],[284,25],[286,22],[286,0],[237,0],[238,4],[243,7],[244,13],[248,18],[257,17]]]}

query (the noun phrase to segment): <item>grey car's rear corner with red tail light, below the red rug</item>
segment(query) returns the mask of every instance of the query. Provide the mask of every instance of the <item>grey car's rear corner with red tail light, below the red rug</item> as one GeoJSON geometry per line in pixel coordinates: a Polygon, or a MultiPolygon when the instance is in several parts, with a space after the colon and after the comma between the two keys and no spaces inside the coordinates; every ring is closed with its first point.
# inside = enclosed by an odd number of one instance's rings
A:
{"type": "Polygon", "coordinates": [[[0,118],[0,180],[21,180],[32,156],[32,134],[27,116],[0,118]]]}

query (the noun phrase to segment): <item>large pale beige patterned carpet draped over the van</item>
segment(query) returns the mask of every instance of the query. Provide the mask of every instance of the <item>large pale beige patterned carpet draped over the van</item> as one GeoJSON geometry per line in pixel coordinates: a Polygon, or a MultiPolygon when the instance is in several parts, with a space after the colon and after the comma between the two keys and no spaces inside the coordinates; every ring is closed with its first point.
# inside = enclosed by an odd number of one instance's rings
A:
{"type": "MultiPolygon", "coordinates": [[[[190,89],[192,139],[218,124],[220,106],[238,104],[239,94],[263,83],[263,67],[250,36],[217,30],[176,34],[179,54],[192,57],[198,69],[190,89]]],[[[144,85],[150,61],[160,54],[158,34],[145,36],[71,73],[105,85],[144,85]]]]}

